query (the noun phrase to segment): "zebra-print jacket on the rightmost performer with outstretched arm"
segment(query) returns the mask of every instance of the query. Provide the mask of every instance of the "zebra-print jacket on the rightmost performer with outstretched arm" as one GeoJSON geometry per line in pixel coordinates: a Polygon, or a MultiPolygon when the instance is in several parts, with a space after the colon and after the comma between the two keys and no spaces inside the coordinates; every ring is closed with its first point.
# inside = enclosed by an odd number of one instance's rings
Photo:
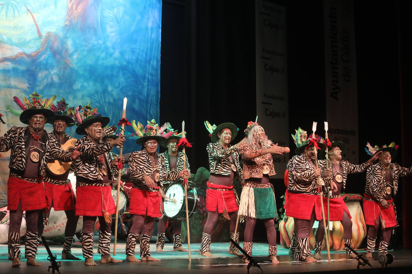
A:
{"type": "MultiPolygon", "coordinates": [[[[397,163],[391,163],[390,169],[393,180],[393,195],[396,195],[396,192],[398,192],[399,178],[412,175],[412,166],[410,168],[403,168],[397,163]]],[[[384,165],[377,163],[370,166],[368,170],[366,170],[366,194],[372,196],[378,202],[381,202],[386,196],[385,181],[384,165]]]]}

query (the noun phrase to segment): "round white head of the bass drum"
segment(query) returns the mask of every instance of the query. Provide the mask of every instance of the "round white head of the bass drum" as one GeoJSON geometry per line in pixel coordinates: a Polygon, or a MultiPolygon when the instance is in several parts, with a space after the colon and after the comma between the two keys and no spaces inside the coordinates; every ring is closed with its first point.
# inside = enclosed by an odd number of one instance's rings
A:
{"type": "Polygon", "coordinates": [[[183,208],[185,190],[180,183],[175,183],[166,189],[164,195],[166,196],[163,202],[164,214],[168,217],[176,216],[183,208]]]}

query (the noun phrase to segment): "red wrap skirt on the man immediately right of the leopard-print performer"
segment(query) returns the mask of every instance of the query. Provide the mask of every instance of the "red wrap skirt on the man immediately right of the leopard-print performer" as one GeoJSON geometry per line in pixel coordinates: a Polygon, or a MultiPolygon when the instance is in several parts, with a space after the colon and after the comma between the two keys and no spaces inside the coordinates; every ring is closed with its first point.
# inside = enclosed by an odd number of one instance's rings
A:
{"type": "Polygon", "coordinates": [[[310,220],[315,210],[316,220],[322,219],[321,199],[319,195],[292,193],[286,190],[286,216],[296,219],[310,220]]]}

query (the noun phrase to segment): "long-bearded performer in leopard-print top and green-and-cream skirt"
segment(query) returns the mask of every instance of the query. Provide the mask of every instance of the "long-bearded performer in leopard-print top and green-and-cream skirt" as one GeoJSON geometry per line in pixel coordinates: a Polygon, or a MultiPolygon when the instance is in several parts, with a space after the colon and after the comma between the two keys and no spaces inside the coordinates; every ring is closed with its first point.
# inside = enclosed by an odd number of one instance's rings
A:
{"type": "MultiPolygon", "coordinates": [[[[278,219],[275,193],[269,176],[276,175],[272,154],[289,152],[286,148],[273,144],[267,139],[264,129],[256,122],[249,122],[245,129],[247,142],[240,143],[238,152],[243,161],[243,178],[245,184],[240,197],[239,215],[246,217],[246,229],[243,250],[252,256],[253,230],[257,219],[265,223],[269,242],[269,258],[273,263],[277,259],[276,228],[278,219]]],[[[249,262],[246,256],[243,261],[249,262]]]]}

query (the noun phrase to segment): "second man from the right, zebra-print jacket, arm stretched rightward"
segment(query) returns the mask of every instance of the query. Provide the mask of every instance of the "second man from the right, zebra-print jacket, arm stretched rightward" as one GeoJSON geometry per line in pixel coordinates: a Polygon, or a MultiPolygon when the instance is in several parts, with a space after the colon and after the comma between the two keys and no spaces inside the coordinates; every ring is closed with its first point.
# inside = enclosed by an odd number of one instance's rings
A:
{"type": "MultiPolygon", "coordinates": [[[[337,189],[332,191],[332,195],[329,198],[329,220],[328,216],[325,216],[326,221],[340,221],[343,226],[344,243],[352,247],[352,221],[351,215],[349,213],[348,207],[346,206],[343,196],[340,193],[344,191],[346,186],[346,178],[350,173],[361,173],[365,171],[373,162],[378,158],[382,152],[375,154],[371,159],[362,163],[360,165],[354,165],[349,163],[349,161],[342,160],[342,151],[345,151],[346,145],[342,142],[332,142],[329,140],[325,142],[329,144],[329,159],[322,159],[321,161],[321,171],[325,175],[325,183],[328,184],[332,180],[337,189]],[[328,169],[326,169],[326,161],[328,161],[328,169]]],[[[322,156],[324,151],[321,152],[322,156]]],[[[321,155],[320,154],[320,155],[321,155]]],[[[327,194],[323,194],[323,206],[325,212],[327,212],[327,194]]],[[[323,222],[319,222],[318,230],[316,231],[316,242],[315,242],[315,259],[321,259],[321,250],[323,237],[325,235],[325,228],[323,222]]],[[[354,259],[356,255],[345,246],[346,258],[354,259]]]]}

